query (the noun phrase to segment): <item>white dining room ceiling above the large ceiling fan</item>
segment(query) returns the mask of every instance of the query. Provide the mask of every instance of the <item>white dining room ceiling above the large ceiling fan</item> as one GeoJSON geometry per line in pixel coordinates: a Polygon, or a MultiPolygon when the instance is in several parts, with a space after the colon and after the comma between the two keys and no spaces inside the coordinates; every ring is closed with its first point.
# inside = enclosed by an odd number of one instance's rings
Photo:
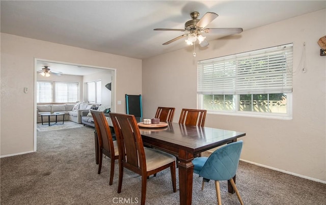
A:
{"type": "Polygon", "coordinates": [[[1,32],[144,59],[186,47],[182,39],[162,45],[183,32],[153,29],[184,28],[193,11],[199,18],[219,14],[207,28],[246,31],[325,6],[326,1],[1,1],[1,32]]]}

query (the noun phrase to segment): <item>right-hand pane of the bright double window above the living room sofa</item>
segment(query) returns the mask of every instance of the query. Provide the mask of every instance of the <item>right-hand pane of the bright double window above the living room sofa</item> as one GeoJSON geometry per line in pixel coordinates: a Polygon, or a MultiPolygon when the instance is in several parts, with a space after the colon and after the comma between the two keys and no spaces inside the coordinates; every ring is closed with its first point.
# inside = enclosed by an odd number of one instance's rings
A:
{"type": "Polygon", "coordinates": [[[78,83],[56,82],[56,102],[78,101],[78,83]]]}

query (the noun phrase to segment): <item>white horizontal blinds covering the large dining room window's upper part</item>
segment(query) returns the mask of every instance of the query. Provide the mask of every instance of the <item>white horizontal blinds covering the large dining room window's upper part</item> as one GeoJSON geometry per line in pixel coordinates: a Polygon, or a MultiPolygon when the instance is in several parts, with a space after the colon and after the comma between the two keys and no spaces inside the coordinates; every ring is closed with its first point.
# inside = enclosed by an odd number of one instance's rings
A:
{"type": "Polygon", "coordinates": [[[198,94],[292,93],[293,44],[198,62],[198,94]]]}

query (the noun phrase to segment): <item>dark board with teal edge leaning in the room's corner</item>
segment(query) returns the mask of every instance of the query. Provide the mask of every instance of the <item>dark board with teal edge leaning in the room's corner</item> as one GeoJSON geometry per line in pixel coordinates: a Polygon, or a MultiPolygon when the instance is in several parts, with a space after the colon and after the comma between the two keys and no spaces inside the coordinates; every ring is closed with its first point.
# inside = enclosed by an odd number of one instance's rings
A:
{"type": "Polygon", "coordinates": [[[126,94],[126,113],[143,118],[142,95],[126,94]]]}

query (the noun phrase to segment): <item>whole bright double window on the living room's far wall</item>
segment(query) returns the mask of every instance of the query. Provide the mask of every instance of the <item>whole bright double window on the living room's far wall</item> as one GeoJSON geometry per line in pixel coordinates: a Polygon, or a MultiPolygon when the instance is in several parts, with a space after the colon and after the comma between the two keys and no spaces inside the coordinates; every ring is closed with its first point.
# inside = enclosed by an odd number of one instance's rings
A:
{"type": "Polygon", "coordinates": [[[79,84],[77,82],[37,81],[36,84],[37,103],[75,103],[78,101],[79,84]]]}

